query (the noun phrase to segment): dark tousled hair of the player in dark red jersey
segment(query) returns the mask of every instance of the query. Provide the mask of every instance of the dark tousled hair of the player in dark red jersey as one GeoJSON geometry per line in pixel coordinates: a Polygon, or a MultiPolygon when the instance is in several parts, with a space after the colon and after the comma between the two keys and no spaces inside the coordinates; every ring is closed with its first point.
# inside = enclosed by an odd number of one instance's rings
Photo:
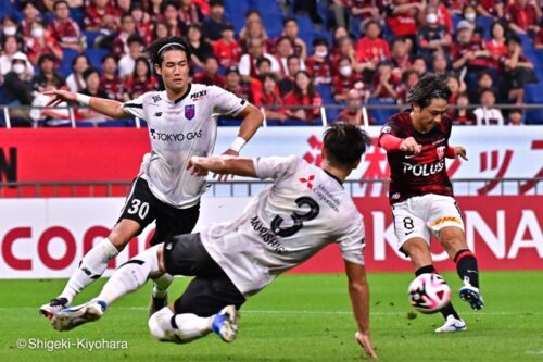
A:
{"type": "Polygon", "coordinates": [[[446,84],[447,78],[446,74],[425,74],[407,93],[407,102],[425,109],[431,103],[432,99],[447,101],[451,98],[451,89],[446,84]]]}

